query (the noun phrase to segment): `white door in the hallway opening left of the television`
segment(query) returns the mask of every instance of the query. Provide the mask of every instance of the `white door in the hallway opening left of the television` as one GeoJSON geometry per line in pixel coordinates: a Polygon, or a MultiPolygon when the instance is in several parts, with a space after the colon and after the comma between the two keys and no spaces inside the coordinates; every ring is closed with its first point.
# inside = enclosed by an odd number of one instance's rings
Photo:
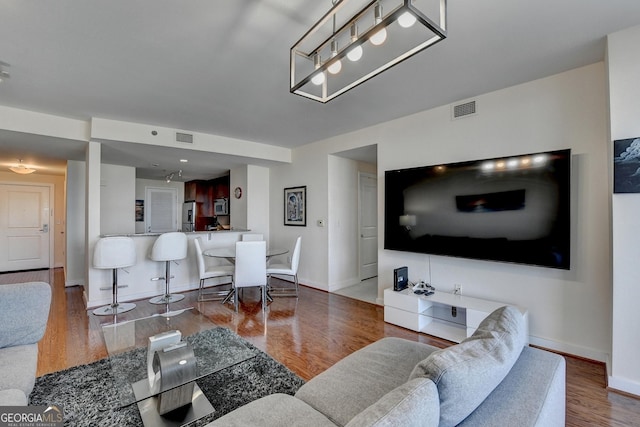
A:
{"type": "Polygon", "coordinates": [[[360,280],[378,275],[378,180],[360,174],[360,280]]]}

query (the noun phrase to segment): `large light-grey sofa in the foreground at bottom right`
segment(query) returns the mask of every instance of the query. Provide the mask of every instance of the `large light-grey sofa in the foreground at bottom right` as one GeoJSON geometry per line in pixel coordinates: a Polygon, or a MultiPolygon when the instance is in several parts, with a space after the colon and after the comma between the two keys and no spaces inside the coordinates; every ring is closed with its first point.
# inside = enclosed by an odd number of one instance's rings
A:
{"type": "Polygon", "coordinates": [[[564,426],[565,360],[526,345],[520,312],[502,307],[460,344],[383,338],[303,385],[216,426],[564,426]]]}

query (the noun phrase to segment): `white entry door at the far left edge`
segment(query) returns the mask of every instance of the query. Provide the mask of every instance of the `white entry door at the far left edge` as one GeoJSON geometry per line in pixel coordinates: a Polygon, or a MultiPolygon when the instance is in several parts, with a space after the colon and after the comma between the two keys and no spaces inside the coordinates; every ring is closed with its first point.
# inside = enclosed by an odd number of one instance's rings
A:
{"type": "Polygon", "coordinates": [[[50,268],[50,191],[0,184],[0,271],[50,268]]]}

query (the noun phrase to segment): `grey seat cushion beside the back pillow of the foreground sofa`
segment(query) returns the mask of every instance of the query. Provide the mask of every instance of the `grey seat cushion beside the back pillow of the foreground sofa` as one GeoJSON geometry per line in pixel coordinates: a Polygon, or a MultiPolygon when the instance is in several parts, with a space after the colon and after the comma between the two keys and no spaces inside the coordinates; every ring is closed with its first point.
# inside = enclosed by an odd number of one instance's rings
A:
{"type": "Polygon", "coordinates": [[[344,426],[409,379],[416,363],[437,350],[401,338],[383,338],[350,354],[296,393],[298,399],[344,426]]]}

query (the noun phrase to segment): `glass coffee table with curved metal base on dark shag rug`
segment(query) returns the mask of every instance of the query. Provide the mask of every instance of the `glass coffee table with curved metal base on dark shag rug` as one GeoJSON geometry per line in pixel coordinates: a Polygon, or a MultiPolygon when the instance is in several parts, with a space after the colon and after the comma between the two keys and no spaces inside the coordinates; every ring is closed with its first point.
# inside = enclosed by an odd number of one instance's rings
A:
{"type": "Polygon", "coordinates": [[[184,425],[214,412],[195,381],[257,355],[223,332],[195,308],[103,325],[114,378],[110,404],[137,403],[145,426],[184,425]]]}

